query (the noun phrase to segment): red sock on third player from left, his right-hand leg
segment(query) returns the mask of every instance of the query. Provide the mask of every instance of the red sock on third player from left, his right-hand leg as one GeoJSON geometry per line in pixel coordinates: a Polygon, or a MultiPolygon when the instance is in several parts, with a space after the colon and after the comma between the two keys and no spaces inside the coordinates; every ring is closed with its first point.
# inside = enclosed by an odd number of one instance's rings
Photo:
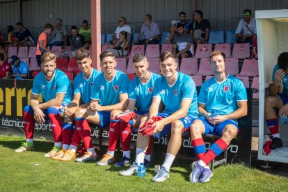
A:
{"type": "Polygon", "coordinates": [[[108,147],[109,151],[111,152],[115,151],[119,135],[120,135],[120,120],[110,120],[109,147],[108,147]]]}

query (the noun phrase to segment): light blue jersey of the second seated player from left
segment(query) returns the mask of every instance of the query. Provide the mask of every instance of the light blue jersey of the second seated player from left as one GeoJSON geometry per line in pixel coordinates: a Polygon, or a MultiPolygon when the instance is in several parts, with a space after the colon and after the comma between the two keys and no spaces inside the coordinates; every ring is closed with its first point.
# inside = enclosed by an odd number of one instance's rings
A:
{"type": "Polygon", "coordinates": [[[84,77],[83,72],[79,73],[74,79],[74,95],[81,94],[81,101],[86,104],[91,101],[91,90],[93,82],[101,74],[101,72],[92,69],[89,79],[84,77]]]}

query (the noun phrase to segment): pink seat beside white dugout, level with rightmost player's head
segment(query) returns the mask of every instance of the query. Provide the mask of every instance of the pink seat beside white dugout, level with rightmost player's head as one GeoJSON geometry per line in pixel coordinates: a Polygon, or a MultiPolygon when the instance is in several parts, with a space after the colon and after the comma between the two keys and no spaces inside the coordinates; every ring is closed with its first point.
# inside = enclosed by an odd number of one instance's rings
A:
{"type": "Polygon", "coordinates": [[[258,75],[258,60],[244,59],[239,76],[255,77],[258,75]]]}

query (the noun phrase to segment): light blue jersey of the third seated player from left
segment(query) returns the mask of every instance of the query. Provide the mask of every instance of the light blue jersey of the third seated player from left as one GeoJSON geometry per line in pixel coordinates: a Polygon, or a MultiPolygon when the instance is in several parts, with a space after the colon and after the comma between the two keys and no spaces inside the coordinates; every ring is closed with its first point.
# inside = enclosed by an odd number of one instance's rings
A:
{"type": "Polygon", "coordinates": [[[107,81],[102,72],[94,81],[91,99],[99,99],[99,105],[118,104],[120,94],[128,94],[129,79],[124,72],[115,70],[115,76],[107,81]]]}

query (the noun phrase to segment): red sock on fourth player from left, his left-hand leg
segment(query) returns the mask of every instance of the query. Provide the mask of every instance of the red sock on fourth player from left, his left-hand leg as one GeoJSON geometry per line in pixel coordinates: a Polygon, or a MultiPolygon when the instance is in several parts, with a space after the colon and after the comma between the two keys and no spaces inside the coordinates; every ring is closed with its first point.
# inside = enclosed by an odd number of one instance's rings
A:
{"type": "Polygon", "coordinates": [[[122,144],[122,150],[123,151],[129,151],[130,150],[130,142],[131,142],[131,125],[129,122],[123,122],[120,121],[120,141],[122,144]]]}

